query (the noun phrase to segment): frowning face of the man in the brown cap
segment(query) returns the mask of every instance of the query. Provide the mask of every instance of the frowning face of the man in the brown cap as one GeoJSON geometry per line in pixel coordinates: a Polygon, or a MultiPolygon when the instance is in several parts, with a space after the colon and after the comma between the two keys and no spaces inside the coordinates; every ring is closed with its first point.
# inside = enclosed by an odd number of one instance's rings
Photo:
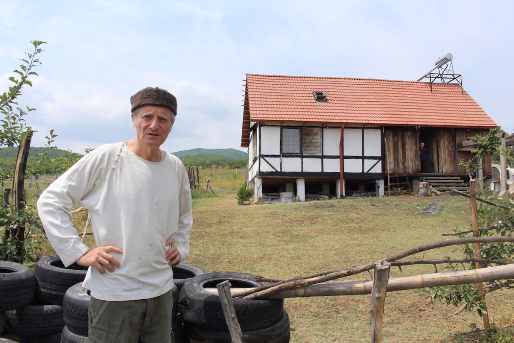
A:
{"type": "Polygon", "coordinates": [[[132,114],[137,140],[146,146],[160,147],[173,127],[173,113],[168,107],[145,105],[132,114]]]}

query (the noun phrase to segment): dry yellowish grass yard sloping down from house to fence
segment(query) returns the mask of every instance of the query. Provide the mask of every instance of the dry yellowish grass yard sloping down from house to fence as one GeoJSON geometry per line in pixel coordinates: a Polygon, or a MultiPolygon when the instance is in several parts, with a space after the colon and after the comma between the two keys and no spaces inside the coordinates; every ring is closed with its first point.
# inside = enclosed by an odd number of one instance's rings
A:
{"type": "MultiPolygon", "coordinates": [[[[211,178],[218,197],[193,202],[189,262],[208,272],[237,271],[290,278],[377,260],[420,244],[443,241],[442,233],[470,227],[466,198],[392,196],[346,198],[308,203],[238,206],[235,192],[243,171],[201,170],[200,183],[211,178]],[[437,215],[416,212],[446,200],[437,215]]],[[[80,214],[77,227],[82,227],[80,214]]],[[[460,256],[460,248],[427,251],[409,260],[460,256]]],[[[442,269],[440,267],[439,269],[442,269]]],[[[391,270],[391,277],[433,273],[432,266],[391,270]]],[[[368,273],[355,278],[371,278],[368,273]]],[[[491,321],[514,323],[514,292],[488,294],[491,321]]],[[[368,342],[370,296],[286,299],[291,342],[368,342]]],[[[449,342],[460,332],[482,327],[476,312],[452,316],[452,305],[433,303],[418,290],[386,297],[383,342],[449,342]]],[[[474,340],[467,340],[474,341],[474,340]]],[[[512,341],[512,340],[511,340],[512,341]]]]}

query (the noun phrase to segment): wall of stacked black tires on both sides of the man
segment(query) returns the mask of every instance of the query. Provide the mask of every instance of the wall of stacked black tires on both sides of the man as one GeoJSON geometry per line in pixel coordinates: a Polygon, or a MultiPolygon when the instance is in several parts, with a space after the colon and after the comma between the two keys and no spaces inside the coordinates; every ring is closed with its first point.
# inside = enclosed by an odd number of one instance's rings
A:
{"type": "MultiPolygon", "coordinates": [[[[225,280],[232,287],[262,283],[250,274],[206,274],[190,263],[180,263],[173,272],[175,343],[231,342],[219,297],[206,290],[225,280]]],[[[0,261],[0,342],[87,342],[90,295],[82,287],[85,274],[86,268],[78,265],[65,268],[57,256],[41,259],[35,272],[20,263],[0,261]]],[[[282,299],[233,299],[233,303],[247,342],[289,341],[282,299]]]]}

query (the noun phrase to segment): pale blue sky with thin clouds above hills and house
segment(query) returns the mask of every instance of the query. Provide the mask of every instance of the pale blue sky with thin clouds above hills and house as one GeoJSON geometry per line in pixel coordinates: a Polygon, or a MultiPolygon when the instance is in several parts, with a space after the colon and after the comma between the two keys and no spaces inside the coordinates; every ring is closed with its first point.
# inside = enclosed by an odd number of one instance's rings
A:
{"type": "Polygon", "coordinates": [[[163,148],[240,148],[247,73],[415,81],[453,54],[466,91],[514,131],[511,1],[2,0],[0,91],[31,40],[48,42],[20,104],[42,146],[84,152],[135,136],[130,96],[168,89],[163,148]]]}

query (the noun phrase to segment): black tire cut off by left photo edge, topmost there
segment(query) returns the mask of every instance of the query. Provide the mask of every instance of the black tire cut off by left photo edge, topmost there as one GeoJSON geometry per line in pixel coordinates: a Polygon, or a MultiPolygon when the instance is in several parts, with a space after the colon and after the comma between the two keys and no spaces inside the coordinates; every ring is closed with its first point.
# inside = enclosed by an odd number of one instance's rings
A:
{"type": "Polygon", "coordinates": [[[30,304],[35,290],[34,270],[21,263],[0,261],[0,312],[30,304]]]}

